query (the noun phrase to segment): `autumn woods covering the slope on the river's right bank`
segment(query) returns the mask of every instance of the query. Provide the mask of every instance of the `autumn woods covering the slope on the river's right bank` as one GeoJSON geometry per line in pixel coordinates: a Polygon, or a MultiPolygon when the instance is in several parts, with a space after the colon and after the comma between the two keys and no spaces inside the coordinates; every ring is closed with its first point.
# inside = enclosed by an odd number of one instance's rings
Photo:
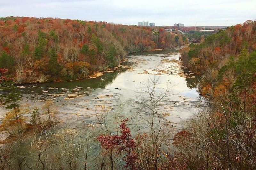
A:
{"type": "Polygon", "coordinates": [[[192,169],[256,168],[256,22],[231,26],[191,44],[183,62],[201,74],[209,106],[186,122],[174,145],[192,169]]]}

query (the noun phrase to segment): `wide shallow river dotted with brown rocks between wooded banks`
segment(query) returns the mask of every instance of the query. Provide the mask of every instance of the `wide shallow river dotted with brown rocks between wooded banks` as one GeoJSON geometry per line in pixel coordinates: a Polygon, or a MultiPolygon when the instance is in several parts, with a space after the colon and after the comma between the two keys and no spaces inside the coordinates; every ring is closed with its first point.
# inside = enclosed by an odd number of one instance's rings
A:
{"type": "MultiPolygon", "coordinates": [[[[156,96],[169,88],[158,110],[167,112],[164,121],[172,127],[181,127],[180,122],[204,106],[196,92],[198,78],[186,71],[179,50],[175,49],[134,53],[98,78],[21,85],[21,104],[41,108],[45,100],[51,99],[63,122],[74,126],[95,124],[99,115],[106,114],[111,124],[126,117],[132,119],[136,114],[147,115],[138,96],[150,78],[159,79],[156,96]]],[[[2,117],[4,112],[2,109],[2,117]]]]}

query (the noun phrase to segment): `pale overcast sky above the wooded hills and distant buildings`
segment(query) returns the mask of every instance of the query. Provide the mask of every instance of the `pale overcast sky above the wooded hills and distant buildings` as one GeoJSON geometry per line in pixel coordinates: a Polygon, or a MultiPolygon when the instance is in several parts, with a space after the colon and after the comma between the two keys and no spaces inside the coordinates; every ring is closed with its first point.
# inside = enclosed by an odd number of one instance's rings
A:
{"type": "Polygon", "coordinates": [[[256,0],[0,0],[0,17],[7,16],[231,26],[256,19],[256,0]]]}

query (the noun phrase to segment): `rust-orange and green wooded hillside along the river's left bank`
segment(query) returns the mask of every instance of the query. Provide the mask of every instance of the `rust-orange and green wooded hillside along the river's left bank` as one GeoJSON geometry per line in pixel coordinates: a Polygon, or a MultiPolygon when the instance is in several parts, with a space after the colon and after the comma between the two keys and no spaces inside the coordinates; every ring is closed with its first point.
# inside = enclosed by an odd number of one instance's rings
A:
{"type": "MultiPolygon", "coordinates": [[[[159,28],[59,18],[0,18],[0,68],[16,83],[73,80],[116,66],[131,52],[182,45],[159,28]]],[[[176,37],[176,39],[175,39],[176,37]]]]}

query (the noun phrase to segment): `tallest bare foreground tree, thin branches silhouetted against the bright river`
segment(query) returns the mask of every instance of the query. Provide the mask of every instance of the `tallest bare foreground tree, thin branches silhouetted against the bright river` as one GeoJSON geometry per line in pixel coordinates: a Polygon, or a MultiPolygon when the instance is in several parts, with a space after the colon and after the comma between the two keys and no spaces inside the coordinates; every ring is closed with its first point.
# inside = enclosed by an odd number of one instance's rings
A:
{"type": "MultiPolygon", "coordinates": [[[[168,127],[163,118],[167,112],[160,112],[159,106],[165,97],[171,96],[168,91],[170,88],[167,86],[163,91],[159,87],[159,79],[149,78],[148,81],[142,82],[140,87],[139,99],[142,108],[148,113],[148,117],[136,117],[137,119],[137,137],[136,137],[136,152],[138,153],[139,167],[141,169],[153,168],[157,170],[164,159],[161,155],[162,146],[168,143],[166,140],[169,137],[168,127]],[[149,133],[140,134],[140,124],[148,126],[149,133]]],[[[169,154],[169,152],[168,152],[169,154]]]]}

